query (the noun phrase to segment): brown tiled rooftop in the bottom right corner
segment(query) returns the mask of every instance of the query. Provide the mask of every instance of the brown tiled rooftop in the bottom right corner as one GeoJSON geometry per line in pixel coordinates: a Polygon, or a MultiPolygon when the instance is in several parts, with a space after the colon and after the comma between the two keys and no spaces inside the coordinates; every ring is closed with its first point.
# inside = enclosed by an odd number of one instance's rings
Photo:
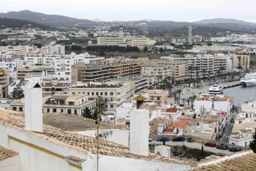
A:
{"type": "MultiPolygon", "coordinates": [[[[218,159],[217,159],[218,160],[218,159]]],[[[231,160],[224,160],[220,163],[210,164],[207,166],[202,166],[201,168],[196,168],[194,171],[253,171],[256,170],[256,154],[250,152],[249,154],[242,155],[231,160]]]]}

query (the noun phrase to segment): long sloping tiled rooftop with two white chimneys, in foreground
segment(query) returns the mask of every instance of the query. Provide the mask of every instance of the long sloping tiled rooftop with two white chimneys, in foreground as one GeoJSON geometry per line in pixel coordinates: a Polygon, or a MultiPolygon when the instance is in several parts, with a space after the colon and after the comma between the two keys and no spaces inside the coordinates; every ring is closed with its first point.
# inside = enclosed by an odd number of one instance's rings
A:
{"type": "MultiPolygon", "coordinates": [[[[25,129],[23,129],[25,126],[24,118],[22,116],[17,115],[14,111],[0,109],[0,124],[4,124],[19,129],[21,128],[20,130],[25,131],[25,129]]],[[[29,131],[26,132],[30,134],[29,131]]],[[[31,132],[31,134],[37,135],[35,132],[31,132]]],[[[43,125],[42,134],[38,135],[42,138],[46,138],[47,140],[55,140],[56,143],[64,143],[64,145],[74,146],[77,149],[81,149],[81,151],[86,150],[92,152],[93,154],[96,154],[97,152],[97,143],[96,138],[94,137],[62,131],[61,129],[49,125],[43,125]],[[42,137],[42,134],[45,136],[42,137]]],[[[148,156],[131,154],[130,149],[127,146],[119,145],[117,143],[106,141],[104,139],[99,140],[99,154],[110,155],[115,157],[127,157],[142,160],[185,164],[184,161],[176,160],[169,157],[163,157],[152,153],[149,153],[148,156]]]]}

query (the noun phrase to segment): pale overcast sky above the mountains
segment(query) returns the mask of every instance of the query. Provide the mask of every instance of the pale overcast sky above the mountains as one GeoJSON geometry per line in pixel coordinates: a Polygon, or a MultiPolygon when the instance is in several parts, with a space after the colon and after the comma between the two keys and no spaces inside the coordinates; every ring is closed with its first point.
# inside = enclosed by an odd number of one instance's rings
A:
{"type": "Polygon", "coordinates": [[[256,22],[256,0],[0,0],[0,12],[31,10],[79,19],[256,22]]]}

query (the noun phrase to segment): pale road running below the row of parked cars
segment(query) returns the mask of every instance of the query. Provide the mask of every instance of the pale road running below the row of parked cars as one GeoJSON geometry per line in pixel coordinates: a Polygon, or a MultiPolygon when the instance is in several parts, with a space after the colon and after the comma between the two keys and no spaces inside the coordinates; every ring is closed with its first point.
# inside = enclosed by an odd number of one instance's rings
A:
{"type": "MultiPolygon", "coordinates": [[[[156,145],[163,145],[163,142],[158,142],[158,141],[152,141],[149,142],[150,144],[156,144],[156,145]]],[[[170,146],[182,146],[182,145],[186,145],[188,148],[194,148],[194,149],[200,149],[202,148],[202,144],[201,143],[189,143],[187,141],[182,142],[173,142],[173,141],[167,141],[166,145],[170,145],[170,146]]],[[[216,148],[210,148],[207,146],[204,146],[204,151],[209,151],[209,152],[213,152],[215,154],[220,153],[220,154],[233,154],[233,152],[230,152],[228,150],[221,150],[221,149],[216,149],[216,148]]]]}

